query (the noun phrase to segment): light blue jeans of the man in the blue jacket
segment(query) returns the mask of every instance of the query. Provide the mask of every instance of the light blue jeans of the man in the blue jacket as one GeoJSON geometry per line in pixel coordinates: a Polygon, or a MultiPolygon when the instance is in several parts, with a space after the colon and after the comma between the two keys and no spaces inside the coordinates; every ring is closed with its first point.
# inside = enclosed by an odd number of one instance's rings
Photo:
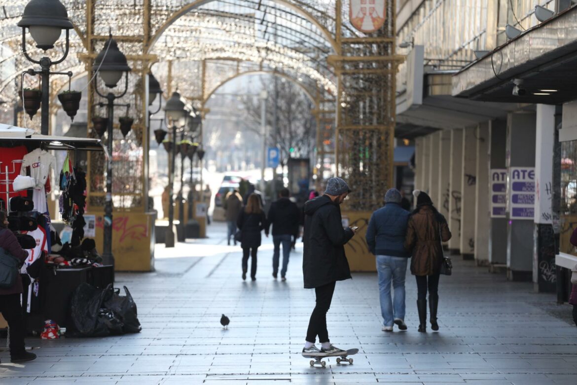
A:
{"type": "Polygon", "coordinates": [[[404,320],[404,277],[408,258],[377,255],[376,259],[383,326],[393,326],[395,319],[404,320]],[[391,281],[395,290],[393,300],[391,281]]]}

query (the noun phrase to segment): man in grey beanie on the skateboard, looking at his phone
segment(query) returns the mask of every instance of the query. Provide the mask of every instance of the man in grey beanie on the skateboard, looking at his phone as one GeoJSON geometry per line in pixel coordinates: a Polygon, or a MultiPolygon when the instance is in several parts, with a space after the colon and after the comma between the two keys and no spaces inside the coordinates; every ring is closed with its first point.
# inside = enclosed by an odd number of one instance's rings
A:
{"type": "Polygon", "coordinates": [[[344,245],[353,238],[358,228],[343,229],[340,216],[340,204],[350,192],[349,186],[341,178],[331,178],[323,196],[305,203],[302,272],[305,289],[314,289],[316,305],[310,315],[303,353],[343,352],[328,338],[327,312],[336,281],[351,278],[344,245]],[[321,349],[314,345],[317,335],[321,349]]]}

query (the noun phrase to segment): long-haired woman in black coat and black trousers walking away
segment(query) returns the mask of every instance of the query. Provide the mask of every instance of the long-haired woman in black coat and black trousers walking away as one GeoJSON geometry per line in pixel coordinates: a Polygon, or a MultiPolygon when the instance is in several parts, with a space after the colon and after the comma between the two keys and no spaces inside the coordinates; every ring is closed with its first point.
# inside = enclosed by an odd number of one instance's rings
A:
{"type": "Polygon", "coordinates": [[[256,281],[256,255],[261,242],[261,231],[265,231],[268,237],[267,216],[260,205],[258,195],[252,193],[244,210],[238,215],[237,226],[241,230],[242,248],[242,279],[246,279],[248,271],[249,255],[252,259],[250,263],[250,278],[256,281]]]}

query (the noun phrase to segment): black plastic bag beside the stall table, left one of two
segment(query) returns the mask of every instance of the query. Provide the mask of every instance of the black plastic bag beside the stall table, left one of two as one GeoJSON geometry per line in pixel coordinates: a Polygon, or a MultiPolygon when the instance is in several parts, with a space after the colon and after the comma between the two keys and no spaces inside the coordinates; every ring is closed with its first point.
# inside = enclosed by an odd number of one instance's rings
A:
{"type": "MultiPolygon", "coordinates": [[[[107,288],[108,289],[108,288],[107,288]]],[[[100,309],[106,297],[106,290],[96,289],[88,283],[81,283],[70,301],[71,323],[66,335],[71,337],[104,337],[110,330],[100,309]]]]}

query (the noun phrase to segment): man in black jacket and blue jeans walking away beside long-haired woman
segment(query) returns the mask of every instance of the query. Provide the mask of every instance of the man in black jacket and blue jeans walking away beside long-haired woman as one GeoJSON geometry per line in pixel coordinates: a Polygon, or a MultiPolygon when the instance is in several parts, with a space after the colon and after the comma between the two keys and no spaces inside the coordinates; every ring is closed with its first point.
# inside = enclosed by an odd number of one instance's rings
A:
{"type": "Polygon", "coordinates": [[[279,271],[280,245],[283,246],[283,267],[280,270],[280,279],[286,281],[288,257],[293,237],[298,236],[300,212],[297,205],[290,199],[287,188],[280,190],[279,199],[271,204],[268,211],[268,227],[272,225],[272,242],[275,249],[272,254],[272,276],[276,279],[279,271]]]}

